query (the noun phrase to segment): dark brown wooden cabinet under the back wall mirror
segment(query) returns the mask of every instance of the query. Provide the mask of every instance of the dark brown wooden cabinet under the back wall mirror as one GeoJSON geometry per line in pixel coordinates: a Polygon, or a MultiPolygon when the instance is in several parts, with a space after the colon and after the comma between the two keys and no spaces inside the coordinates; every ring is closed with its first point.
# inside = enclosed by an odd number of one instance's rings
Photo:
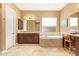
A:
{"type": "Polygon", "coordinates": [[[17,40],[19,44],[38,44],[39,33],[18,33],[17,40]]]}

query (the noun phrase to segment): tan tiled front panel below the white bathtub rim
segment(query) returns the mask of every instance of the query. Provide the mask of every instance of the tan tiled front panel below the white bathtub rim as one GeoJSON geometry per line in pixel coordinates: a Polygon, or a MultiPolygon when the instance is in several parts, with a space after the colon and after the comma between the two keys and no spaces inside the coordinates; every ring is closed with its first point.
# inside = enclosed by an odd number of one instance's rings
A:
{"type": "Polygon", "coordinates": [[[40,39],[41,47],[62,48],[62,39],[40,39]]]}

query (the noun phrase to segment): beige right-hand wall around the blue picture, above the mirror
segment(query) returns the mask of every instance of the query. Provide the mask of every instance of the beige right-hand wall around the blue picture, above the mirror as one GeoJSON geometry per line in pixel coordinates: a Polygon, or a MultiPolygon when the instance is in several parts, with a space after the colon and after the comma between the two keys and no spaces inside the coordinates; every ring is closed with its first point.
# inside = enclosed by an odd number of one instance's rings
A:
{"type": "MultiPolygon", "coordinates": [[[[65,18],[67,18],[69,20],[69,17],[78,11],[79,11],[79,7],[78,7],[77,3],[69,3],[61,10],[60,19],[63,20],[65,18]]],[[[66,29],[61,28],[60,31],[69,33],[70,32],[69,29],[70,28],[68,25],[68,27],[66,29]]]]}

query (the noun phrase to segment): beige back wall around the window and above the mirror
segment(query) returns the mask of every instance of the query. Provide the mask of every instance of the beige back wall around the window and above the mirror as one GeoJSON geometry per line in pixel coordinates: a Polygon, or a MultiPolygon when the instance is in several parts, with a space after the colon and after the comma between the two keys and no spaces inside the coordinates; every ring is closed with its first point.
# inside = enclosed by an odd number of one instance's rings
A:
{"type": "MultiPolygon", "coordinates": [[[[23,20],[26,19],[27,16],[34,16],[37,18],[38,21],[40,21],[41,25],[41,20],[43,16],[55,16],[57,17],[57,32],[59,32],[59,16],[60,12],[59,11],[21,11],[21,18],[23,20]]],[[[40,31],[41,31],[41,26],[40,26],[40,31]]]]}

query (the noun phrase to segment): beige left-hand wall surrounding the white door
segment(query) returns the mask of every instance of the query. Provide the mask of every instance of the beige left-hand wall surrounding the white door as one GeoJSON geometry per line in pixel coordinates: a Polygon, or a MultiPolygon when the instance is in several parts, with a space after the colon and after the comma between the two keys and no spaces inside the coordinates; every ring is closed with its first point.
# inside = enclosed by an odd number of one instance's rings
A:
{"type": "Polygon", "coordinates": [[[16,12],[16,30],[17,30],[17,25],[18,25],[17,24],[18,23],[17,19],[21,18],[20,10],[16,7],[15,4],[13,4],[13,3],[3,3],[2,4],[2,10],[3,10],[2,11],[2,20],[3,20],[2,21],[2,23],[3,23],[3,25],[2,25],[3,26],[3,31],[2,31],[3,32],[3,45],[2,46],[3,46],[3,50],[5,49],[5,42],[6,42],[6,40],[5,40],[5,38],[6,38],[5,37],[5,23],[6,23],[5,22],[5,6],[6,5],[8,5],[9,7],[11,7],[16,12]]]}

